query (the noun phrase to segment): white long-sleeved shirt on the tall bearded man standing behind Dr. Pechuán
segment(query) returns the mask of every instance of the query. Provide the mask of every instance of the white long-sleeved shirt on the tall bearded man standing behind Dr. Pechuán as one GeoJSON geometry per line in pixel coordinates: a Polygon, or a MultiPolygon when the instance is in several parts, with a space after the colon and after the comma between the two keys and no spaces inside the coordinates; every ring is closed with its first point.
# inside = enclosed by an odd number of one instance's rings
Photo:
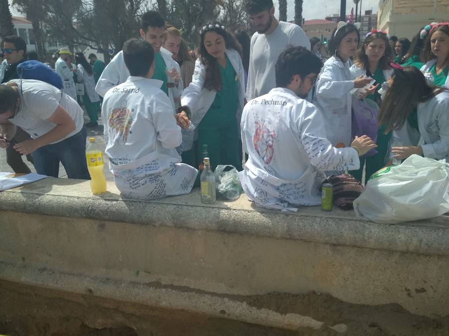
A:
{"type": "Polygon", "coordinates": [[[310,41],[300,26],[279,21],[269,35],[254,33],[249,52],[247,100],[267,94],[276,87],[274,65],[287,46],[310,50],[310,41]]]}

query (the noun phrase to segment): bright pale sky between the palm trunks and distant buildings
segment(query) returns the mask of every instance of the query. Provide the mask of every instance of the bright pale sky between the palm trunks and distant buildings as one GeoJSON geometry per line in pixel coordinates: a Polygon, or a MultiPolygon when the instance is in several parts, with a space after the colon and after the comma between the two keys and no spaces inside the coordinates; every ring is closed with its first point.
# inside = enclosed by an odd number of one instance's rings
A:
{"type": "MultiPolygon", "coordinates": [[[[12,0],[8,0],[9,3],[12,0]]],[[[276,17],[278,16],[278,4],[277,0],[273,0],[274,7],[276,10],[276,17]]],[[[359,3],[360,5],[360,3],[359,3]]],[[[373,9],[373,12],[377,12],[377,8],[379,6],[379,0],[362,0],[362,14],[365,10],[373,9]]],[[[352,0],[346,1],[346,12],[349,14],[351,12],[351,7],[354,7],[355,4],[352,0]]],[[[360,10],[360,7],[359,7],[360,10]]],[[[18,12],[12,10],[12,15],[20,15],[18,12]]],[[[333,15],[336,13],[340,13],[340,1],[339,0],[304,0],[303,8],[302,8],[302,16],[306,20],[312,19],[324,19],[327,15],[333,15]]],[[[295,1],[287,0],[287,20],[293,20],[295,15],[295,1]]]]}

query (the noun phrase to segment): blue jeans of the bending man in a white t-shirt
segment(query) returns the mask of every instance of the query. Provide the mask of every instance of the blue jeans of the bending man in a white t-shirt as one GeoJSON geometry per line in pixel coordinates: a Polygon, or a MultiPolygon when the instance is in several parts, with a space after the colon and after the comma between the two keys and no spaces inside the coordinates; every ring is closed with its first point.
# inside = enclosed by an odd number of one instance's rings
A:
{"type": "Polygon", "coordinates": [[[48,144],[31,153],[38,174],[58,177],[59,162],[69,179],[90,180],[86,162],[86,129],[58,143],[48,144]]]}

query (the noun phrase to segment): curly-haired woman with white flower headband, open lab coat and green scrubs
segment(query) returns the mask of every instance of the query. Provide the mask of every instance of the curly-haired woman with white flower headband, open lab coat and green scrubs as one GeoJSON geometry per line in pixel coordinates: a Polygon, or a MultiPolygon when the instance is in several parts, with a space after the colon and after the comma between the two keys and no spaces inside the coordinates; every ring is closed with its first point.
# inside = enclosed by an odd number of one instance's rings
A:
{"type": "MultiPolygon", "coordinates": [[[[200,57],[192,83],[181,97],[180,109],[192,112],[200,160],[203,145],[208,145],[214,169],[229,164],[241,170],[238,125],[246,96],[240,45],[224,26],[207,24],[200,31],[198,50],[200,57]]],[[[185,152],[192,148],[194,132],[183,133],[185,152]]]]}

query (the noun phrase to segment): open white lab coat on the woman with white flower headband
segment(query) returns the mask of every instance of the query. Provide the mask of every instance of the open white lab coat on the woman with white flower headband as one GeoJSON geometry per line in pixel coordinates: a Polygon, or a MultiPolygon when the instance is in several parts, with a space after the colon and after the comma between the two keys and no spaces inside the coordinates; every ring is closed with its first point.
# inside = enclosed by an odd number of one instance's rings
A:
{"type": "MultiPolygon", "coordinates": [[[[229,58],[229,62],[234,68],[236,75],[238,76],[238,106],[236,111],[237,123],[240,123],[241,112],[245,105],[245,75],[243,70],[243,64],[239,53],[233,49],[225,50],[226,56],[229,58]]],[[[203,120],[206,112],[214,103],[217,91],[209,91],[204,87],[204,81],[206,79],[206,67],[201,63],[200,59],[195,62],[195,71],[192,77],[192,83],[184,89],[181,97],[181,106],[187,105],[192,111],[191,122],[198,126],[203,120]]],[[[194,131],[186,131],[183,129],[183,144],[179,150],[187,151],[192,148],[194,140],[194,131]]]]}

